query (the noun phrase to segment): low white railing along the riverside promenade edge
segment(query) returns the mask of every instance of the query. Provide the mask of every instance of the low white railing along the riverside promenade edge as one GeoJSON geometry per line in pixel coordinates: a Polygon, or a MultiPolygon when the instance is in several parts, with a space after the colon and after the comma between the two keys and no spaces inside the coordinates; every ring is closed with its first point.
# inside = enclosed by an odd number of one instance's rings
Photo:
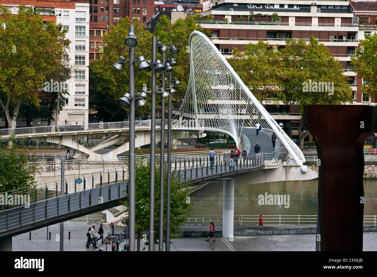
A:
{"type": "MultiPolygon", "coordinates": [[[[222,225],[222,215],[193,215],[190,216],[185,220],[185,225],[209,225],[209,223],[213,222],[216,226],[222,225]]],[[[258,225],[259,223],[259,215],[234,215],[233,216],[233,223],[234,226],[250,226],[250,225],[258,225]]],[[[376,225],[377,223],[377,216],[363,216],[363,223],[365,225],[376,225]]],[[[292,225],[292,224],[317,224],[317,215],[264,215],[263,216],[263,224],[266,225],[292,225]]],[[[216,227],[215,227],[216,230],[216,227]]]]}

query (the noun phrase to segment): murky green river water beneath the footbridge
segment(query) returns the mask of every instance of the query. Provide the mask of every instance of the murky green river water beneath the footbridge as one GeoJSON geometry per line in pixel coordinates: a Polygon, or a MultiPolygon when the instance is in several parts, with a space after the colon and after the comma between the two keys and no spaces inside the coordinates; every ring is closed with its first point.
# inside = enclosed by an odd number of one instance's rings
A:
{"type": "MultiPolygon", "coordinates": [[[[222,185],[208,184],[192,193],[192,215],[222,215],[222,185]]],[[[377,181],[364,180],[364,215],[377,215],[377,181]]],[[[264,198],[264,197],[263,197],[264,198]]],[[[316,215],[318,180],[253,184],[234,188],[234,215],[316,215]],[[282,200],[276,205],[259,205],[265,193],[290,196],[289,208],[282,200]],[[262,198],[262,197],[261,197],[262,198]],[[279,205],[280,204],[280,205],[279,205]],[[285,208],[287,207],[287,208],[285,208]]]]}

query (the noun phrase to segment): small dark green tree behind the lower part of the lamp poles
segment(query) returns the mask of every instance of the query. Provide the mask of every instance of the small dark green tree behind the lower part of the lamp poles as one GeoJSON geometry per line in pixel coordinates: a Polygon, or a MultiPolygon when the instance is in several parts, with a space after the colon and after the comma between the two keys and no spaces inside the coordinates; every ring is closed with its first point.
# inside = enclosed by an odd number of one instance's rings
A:
{"type": "MultiPolygon", "coordinates": [[[[136,194],[135,194],[135,233],[137,235],[137,251],[140,251],[140,239],[143,237],[143,232],[149,230],[149,185],[150,185],[150,163],[145,160],[136,161],[136,194]]],[[[155,168],[156,176],[160,174],[159,162],[156,161],[155,168]]],[[[166,174],[164,177],[164,203],[166,203],[166,174]]],[[[160,180],[155,179],[155,241],[158,243],[159,237],[159,193],[160,180]]],[[[170,237],[176,238],[179,235],[175,234],[179,231],[179,225],[182,225],[185,219],[189,216],[191,204],[187,203],[186,197],[190,194],[190,188],[187,185],[182,185],[178,179],[178,175],[172,175],[171,179],[171,198],[170,198],[170,237]]],[[[128,198],[123,203],[124,206],[129,206],[128,198]]],[[[166,205],[164,207],[164,234],[166,230],[166,205]]],[[[165,238],[164,238],[165,242],[165,238]]],[[[151,243],[148,241],[146,245],[151,243]]],[[[144,248],[145,249],[145,248],[144,248]]],[[[144,250],[143,249],[143,250],[144,250]]]]}

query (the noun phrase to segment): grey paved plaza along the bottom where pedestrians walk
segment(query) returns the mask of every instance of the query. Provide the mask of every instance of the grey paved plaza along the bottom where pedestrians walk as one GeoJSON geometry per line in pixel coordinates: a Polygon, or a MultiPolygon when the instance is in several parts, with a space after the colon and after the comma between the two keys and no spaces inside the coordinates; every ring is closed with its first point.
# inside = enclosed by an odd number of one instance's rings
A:
{"type": "MultiPolygon", "coordinates": [[[[87,222],[64,222],[64,251],[95,251],[98,249],[90,245],[85,247],[86,233],[89,226],[95,225],[96,228],[100,223],[87,222]],[[71,232],[71,239],[68,239],[68,232],[71,232]]],[[[297,226],[297,225],[292,225],[297,226]]],[[[109,225],[103,227],[105,236],[110,232],[109,225]]],[[[115,226],[114,232],[123,232],[124,227],[115,226]]],[[[31,240],[29,233],[13,237],[13,251],[59,251],[60,242],[58,234],[60,225],[49,226],[51,240],[46,239],[47,227],[32,231],[31,240]]],[[[377,232],[363,233],[363,250],[377,250],[377,232]]],[[[265,236],[234,236],[233,240],[216,237],[216,241],[205,241],[205,237],[182,237],[172,239],[170,251],[315,251],[315,234],[300,235],[265,235],[265,236]]],[[[98,246],[101,246],[99,241],[98,246]]],[[[136,240],[135,240],[136,247],[136,240]]],[[[120,249],[124,248],[124,242],[120,244],[120,249]]],[[[144,248],[144,242],[141,240],[141,249],[144,248]]],[[[106,246],[104,245],[106,250],[106,246]]],[[[165,245],[164,245],[165,249],[165,245]]],[[[148,246],[146,246],[146,251],[148,246]]],[[[107,251],[111,251],[111,246],[107,246],[107,251]]],[[[158,251],[158,245],[155,245],[155,251],[158,251]]]]}

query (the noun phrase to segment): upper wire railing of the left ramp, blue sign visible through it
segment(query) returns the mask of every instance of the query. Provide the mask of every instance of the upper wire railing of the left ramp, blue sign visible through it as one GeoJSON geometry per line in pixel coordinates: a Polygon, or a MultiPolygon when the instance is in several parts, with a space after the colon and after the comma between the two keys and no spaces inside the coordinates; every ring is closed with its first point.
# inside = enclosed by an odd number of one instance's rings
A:
{"type": "MultiPolygon", "coordinates": [[[[88,174],[77,174],[75,177],[64,179],[64,194],[76,193],[86,191],[95,187],[102,187],[104,185],[113,184],[119,181],[127,180],[127,167],[112,168],[109,170],[97,171],[88,174]],[[80,180],[81,179],[81,182],[80,180]]],[[[61,180],[52,181],[41,185],[35,185],[26,188],[19,188],[17,190],[7,191],[1,193],[6,199],[6,196],[13,195],[14,199],[25,197],[29,199],[29,204],[36,203],[41,200],[61,196],[61,180]]],[[[17,203],[16,203],[17,204],[17,203]]],[[[19,203],[18,203],[19,205],[19,203]]],[[[0,205],[0,210],[15,207],[14,203],[11,205],[0,205]]]]}

